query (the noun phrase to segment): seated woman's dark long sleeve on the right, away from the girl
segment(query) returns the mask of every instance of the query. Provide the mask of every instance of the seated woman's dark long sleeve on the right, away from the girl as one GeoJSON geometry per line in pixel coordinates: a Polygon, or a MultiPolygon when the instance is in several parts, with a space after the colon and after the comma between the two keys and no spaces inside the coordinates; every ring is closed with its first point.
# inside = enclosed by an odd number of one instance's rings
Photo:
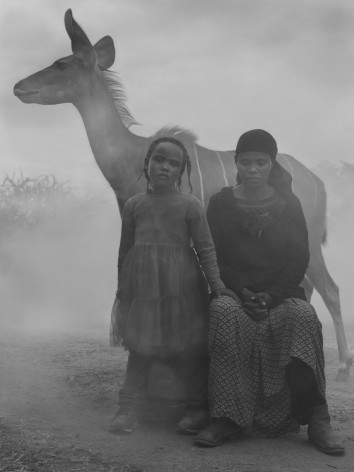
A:
{"type": "Polygon", "coordinates": [[[308,232],[301,203],[295,197],[291,205],[291,215],[287,222],[288,241],[286,264],[266,291],[277,299],[283,299],[289,287],[298,286],[304,276],[310,260],[308,232]]]}

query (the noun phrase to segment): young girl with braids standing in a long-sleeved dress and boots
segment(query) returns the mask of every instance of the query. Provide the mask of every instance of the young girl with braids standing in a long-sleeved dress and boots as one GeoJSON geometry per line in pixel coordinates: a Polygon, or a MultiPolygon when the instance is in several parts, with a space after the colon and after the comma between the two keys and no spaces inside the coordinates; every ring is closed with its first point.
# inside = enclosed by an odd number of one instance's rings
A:
{"type": "Polygon", "coordinates": [[[204,209],[195,196],[180,191],[186,168],[191,188],[184,145],[171,137],[153,141],[143,169],[148,188],[130,198],[123,211],[116,299],[120,315],[113,334],[129,350],[129,358],[112,432],[133,430],[156,359],[167,362],[185,384],[187,413],[178,430],[198,432],[208,420],[205,277],[214,296],[224,284],[204,209]]]}

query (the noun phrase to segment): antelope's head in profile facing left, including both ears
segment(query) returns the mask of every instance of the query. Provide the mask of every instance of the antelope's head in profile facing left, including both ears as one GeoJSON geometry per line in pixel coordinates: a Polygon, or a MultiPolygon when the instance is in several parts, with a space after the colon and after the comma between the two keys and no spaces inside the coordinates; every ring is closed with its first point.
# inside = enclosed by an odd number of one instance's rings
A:
{"type": "Polygon", "coordinates": [[[64,22],[73,54],[18,82],[14,94],[22,102],[75,105],[88,91],[93,77],[114,63],[114,43],[110,36],[105,36],[93,46],[70,9],[65,13],[64,22]]]}

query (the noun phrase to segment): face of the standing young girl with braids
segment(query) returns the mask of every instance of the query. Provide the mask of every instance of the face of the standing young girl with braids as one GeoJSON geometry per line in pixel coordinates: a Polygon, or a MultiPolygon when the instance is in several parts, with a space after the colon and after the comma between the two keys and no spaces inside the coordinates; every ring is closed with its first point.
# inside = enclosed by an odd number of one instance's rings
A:
{"type": "Polygon", "coordinates": [[[176,187],[183,163],[182,149],[170,142],[159,143],[151,154],[148,174],[154,190],[168,193],[176,187]]]}

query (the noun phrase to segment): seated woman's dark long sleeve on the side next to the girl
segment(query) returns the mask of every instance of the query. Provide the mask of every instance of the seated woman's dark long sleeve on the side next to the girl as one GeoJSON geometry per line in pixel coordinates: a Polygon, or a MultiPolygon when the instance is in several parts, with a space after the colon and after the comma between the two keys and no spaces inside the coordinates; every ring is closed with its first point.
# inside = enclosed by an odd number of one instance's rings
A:
{"type": "Polygon", "coordinates": [[[209,202],[207,210],[207,220],[213,241],[216,248],[217,260],[220,269],[220,277],[227,288],[230,288],[235,293],[241,293],[245,287],[252,286],[252,282],[244,277],[240,272],[234,270],[227,263],[227,257],[224,254],[224,241],[222,237],[222,225],[219,221],[220,208],[217,200],[217,195],[212,197],[209,202]]]}

